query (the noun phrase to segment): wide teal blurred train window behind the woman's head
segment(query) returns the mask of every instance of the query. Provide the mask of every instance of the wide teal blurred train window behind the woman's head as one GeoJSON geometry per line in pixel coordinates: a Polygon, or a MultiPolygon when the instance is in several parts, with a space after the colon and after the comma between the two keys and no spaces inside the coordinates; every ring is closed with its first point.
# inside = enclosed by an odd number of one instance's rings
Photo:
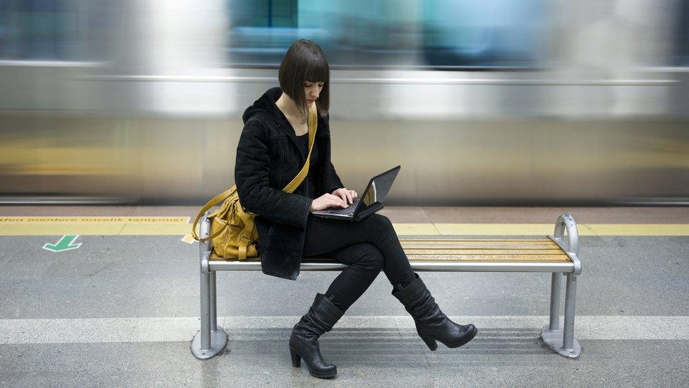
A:
{"type": "Polygon", "coordinates": [[[333,68],[534,66],[545,0],[229,1],[229,66],[277,66],[300,38],[333,68]]]}

